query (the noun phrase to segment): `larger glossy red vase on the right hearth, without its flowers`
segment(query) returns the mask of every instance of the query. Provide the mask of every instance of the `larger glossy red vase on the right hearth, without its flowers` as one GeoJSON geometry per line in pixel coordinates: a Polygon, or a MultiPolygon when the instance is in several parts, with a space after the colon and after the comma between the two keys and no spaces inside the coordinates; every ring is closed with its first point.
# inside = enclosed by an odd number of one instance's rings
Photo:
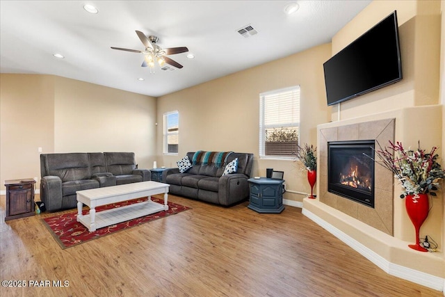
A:
{"type": "Polygon", "coordinates": [[[419,230],[423,222],[428,217],[430,211],[430,203],[428,201],[428,194],[407,195],[405,197],[405,207],[408,216],[411,219],[412,225],[416,230],[416,244],[408,245],[413,250],[421,252],[428,252],[419,244],[419,230]]]}

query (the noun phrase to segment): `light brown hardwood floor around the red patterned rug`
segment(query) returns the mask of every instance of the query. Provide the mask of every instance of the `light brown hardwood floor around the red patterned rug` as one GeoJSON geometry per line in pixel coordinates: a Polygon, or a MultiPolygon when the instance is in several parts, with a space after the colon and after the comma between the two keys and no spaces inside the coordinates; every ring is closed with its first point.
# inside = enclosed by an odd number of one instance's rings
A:
{"type": "Polygon", "coordinates": [[[41,220],[54,214],[8,221],[0,279],[69,286],[1,287],[0,296],[443,297],[388,275],[301,209],[257,214],[247,202],[169,200],[192,209],[65,250],[41,220]]]}

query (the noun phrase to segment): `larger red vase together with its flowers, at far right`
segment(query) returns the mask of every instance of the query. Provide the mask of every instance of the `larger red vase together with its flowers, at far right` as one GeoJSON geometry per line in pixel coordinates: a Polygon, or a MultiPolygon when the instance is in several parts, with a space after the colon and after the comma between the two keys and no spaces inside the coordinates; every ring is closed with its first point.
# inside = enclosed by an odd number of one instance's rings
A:
{"type": "Polygon", "coordinates": [[[381,159],[376,162],[391,170],[394,177],[401,182],[401,198],[405,198],[406,211],[416,231],[416,243],[410,244],[409,247],[421,252],[428,251],[419,243],[420,227],[430,211],[428,194],[436,196],[439,181],[445,177],[444,170],[437,163],[436,150],[437,147],[432,147],[427,153],[421,150],[420,143],[416,151],[405,150],[402,143],[394,144],[391,141],[389,147],[375,150],[375,154],[381,159]]]}

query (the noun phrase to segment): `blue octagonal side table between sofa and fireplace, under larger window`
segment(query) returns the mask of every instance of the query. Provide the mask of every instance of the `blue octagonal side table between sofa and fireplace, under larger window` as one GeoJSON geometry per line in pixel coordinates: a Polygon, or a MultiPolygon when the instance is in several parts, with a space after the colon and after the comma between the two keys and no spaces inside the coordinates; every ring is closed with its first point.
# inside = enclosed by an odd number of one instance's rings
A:
{"type": "Polygon", "coordinates": [[[248,208],[261,214],[280,214],[284,210],[284,179],[248,179],[250,198],[248,208]]]}

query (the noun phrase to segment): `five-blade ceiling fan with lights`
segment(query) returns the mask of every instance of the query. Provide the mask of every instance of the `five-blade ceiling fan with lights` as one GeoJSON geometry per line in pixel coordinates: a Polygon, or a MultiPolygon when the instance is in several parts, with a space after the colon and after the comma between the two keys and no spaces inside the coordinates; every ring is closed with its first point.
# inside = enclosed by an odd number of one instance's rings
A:
{"type": "Polygon", "coordinates": [[[120,51],[131,51],[133,53],[140,53],[145,56],[144,61],[142,63],[142,67],[150,67],[150,72],[154,68],[154,62],[157,61],[160,67],[163,67],[165,63],[175,66],[177,68],[182,68],[183,66],[176,61],[172,60],[171,58],[168,58],[167,55],[174,55],[174,54],[181,54],[188,51],[187,47],[170,47],[168,49],[163,49],[159,47],[159,45],[156,45],[156,42],[158,42],[158,38],[153,35],[147,36],[136,30],[136,34],[138,34],[138,37],[140,41],[142,41],[143,45],[145,46],[145,50],[138,51],[137,49],[123,49],[122,47],[111,47],[112,49],[118,49],[120,51]]]}

